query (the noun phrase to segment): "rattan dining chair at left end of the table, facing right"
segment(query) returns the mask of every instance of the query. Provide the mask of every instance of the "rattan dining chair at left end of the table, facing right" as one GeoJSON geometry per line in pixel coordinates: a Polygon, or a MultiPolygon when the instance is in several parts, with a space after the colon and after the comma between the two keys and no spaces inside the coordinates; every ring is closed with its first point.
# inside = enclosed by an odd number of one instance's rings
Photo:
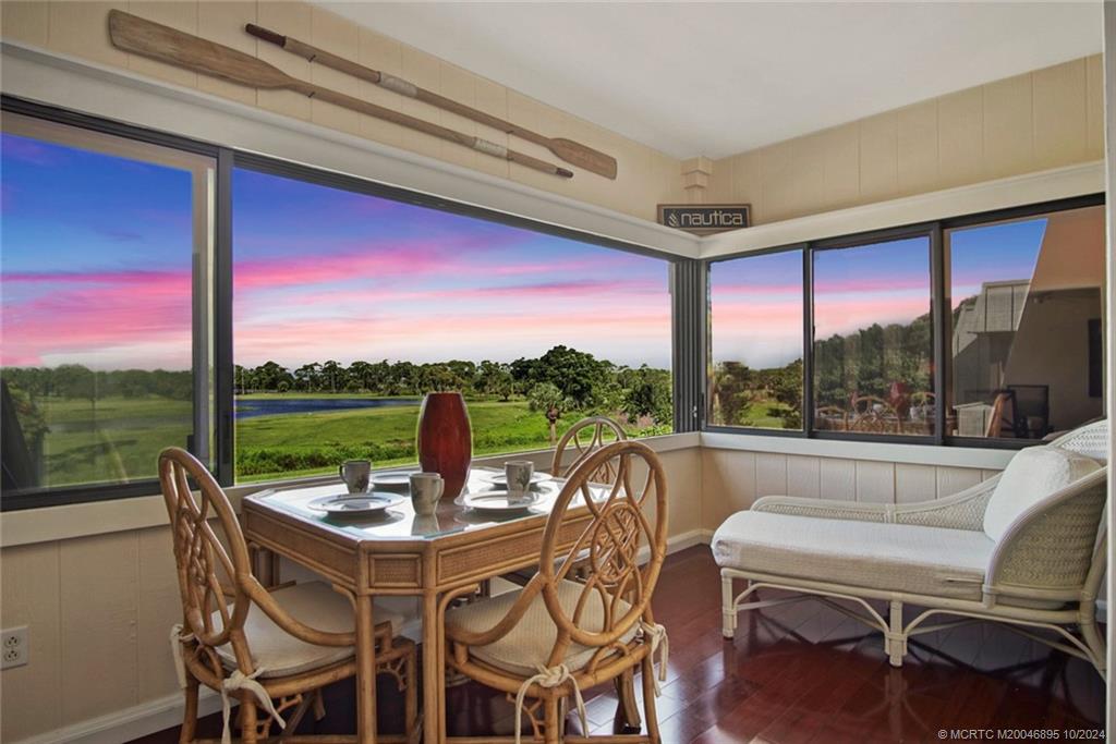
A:
{"type": "MultiPolygon", "coordinates": [[[[225,743],[231,741],[230,696],[240,700],[240,741],[247,744],[266,740],[272,722],[279,724],[285,742],[319,740],[290,734],[311,707],[319,719],[324,715],[324,686],[356,674],[352,601],[320,581],[264,589],[252,573],[229,499],[186,451],[164,450],[158,477],[182,593],[183,621],[171,635],[186,698],[179,741],[205,741],[195,738],[200,685],[221,694],[225,743]],[[199,486],[196,496],[189,479],[199,486]],[[210,523],[214,518],[223,543],[210,523]]],[[[404,690],[406,716],[403,736],[381,741],[416,743],[415,647],[395,637],[402,618],[389,612],[377,616],[389,618],[376,626],[377,671],[393,675],[404,690]]],[[[320,738],[356,741],[355,736],[320,738]]]]}

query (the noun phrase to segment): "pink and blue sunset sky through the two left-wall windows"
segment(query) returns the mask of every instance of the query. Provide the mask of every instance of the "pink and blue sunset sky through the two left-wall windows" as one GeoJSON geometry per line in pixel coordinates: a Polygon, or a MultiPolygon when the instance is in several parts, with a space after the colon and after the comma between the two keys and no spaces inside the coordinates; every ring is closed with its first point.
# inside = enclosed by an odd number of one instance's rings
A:
{"type": "MultiPolygon", "coordinates": [[[[190,175],[2,135],[2,364],[190,366],[190,175]]],[[[565,344],[668,367],[667,263],[250,171],[235,361],[493,359],[565,344]]]]}

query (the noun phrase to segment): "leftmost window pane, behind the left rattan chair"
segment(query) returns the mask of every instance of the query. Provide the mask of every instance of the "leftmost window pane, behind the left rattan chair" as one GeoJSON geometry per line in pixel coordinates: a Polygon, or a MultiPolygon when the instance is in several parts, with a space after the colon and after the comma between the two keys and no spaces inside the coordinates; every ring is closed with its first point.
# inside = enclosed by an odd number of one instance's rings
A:
{"type": "Polygon", "coordinates": [[[0,137],[6,495],[208,458],[213,161],[17,115],[0,137]]]}

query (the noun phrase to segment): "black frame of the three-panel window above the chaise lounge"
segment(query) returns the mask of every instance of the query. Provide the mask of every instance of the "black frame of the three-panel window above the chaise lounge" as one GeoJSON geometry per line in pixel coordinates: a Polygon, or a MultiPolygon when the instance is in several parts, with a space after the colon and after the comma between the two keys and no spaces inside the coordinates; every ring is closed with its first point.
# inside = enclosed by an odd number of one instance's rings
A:
{"type": "MultiPolygon", "coordinates": [[[[1070,196],[1043,202],[1033,202],[999,210],[985,210],[969,214],[945,218],[940,220],[915,222],[905,225],[869,230],[831,238],[800,241],[787,243],[772,248],[764,248],[753,251],[737,251],[718,255],[715,258],[702,260],[702,276],[706,296],[710,292],[710,268],[714,263],[732,261],[752,255],[763,255],[767,253],[781,253],[788,251],[802,251],[802,428],[801,429],[769,429],[753,426],[725,426],[713,425],[705,421],[702,426],[703,432],[716,434],[737,434],[741,436],[783,436],[801,439],[819,441],[844,441],[844,442],[866,442],[876,444],[910,444],[921,446],[952,446],[952,447],[979,447],[989,450],[1022,450],[1023,447],[1039,444],[1037,439],[1004,439],[1004,438],[981,438],[972,436],[953,436],[945,431],[945,405],[947,400],[946,366],[951,364],[949,339],[945,330],[950,327],[950,307],[945,301],[949,288],[945,286],[946,251],[945,233],[949,230],[974,228],[1006,220],[1020,220],[1055,212],[1065,212],[1090,206],[1103,206],[1105,194],[1093,193],[1080,196],[1070,196]],[[907,238],[918,238],[926,235],[930,238],[930,286],[931,286],[931,322],[933,328],[933,361],[934,361],[934,396],[942,405],[934,407],[934,433],[932,435],[912,434],[866,434],[858,432],[829,432],[818,431],[814,427],[814,341],[815,341],[815,302],[814,302],[814,257],[818,251],[839,250],[843,248],[857,248],[872,245],[875,243],[903,240],[907,238]]],[[[702,328],[709,328],[710,307],[706,302],[702,308],[702,328]]],[[[712,334],[712,330],[709,331],[712,334]]],[[[704,389],[709,390],[711,385],[710,365],[712,364],[712,339],[706,338],[702,345],[704,359],[702,368],[705,370],[704,389]]],[[[709,418],[710,402],[704,403],[704,419],[709,418]]]]}

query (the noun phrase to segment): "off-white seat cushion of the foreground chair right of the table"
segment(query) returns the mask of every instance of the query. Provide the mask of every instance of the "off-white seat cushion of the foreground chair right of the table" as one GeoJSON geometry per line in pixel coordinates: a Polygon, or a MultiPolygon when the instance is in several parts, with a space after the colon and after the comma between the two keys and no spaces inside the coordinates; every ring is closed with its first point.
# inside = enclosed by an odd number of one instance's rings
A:
{"type": "MultiPolygon", "coordinates": [[[[584,589],[584,584],[575,581],[562,581],[558,584],[558,600],[567,617],[574,617],[574,608],[577,606],[577,600],[584,589]]],[[[446,625],[472,632],[489,630],[508,613],[508,609],[516,602],[521,591],[522,589],[516,589],[499,597],[482,599],[472,605],[452,609],[445,613],[446,625]]],[[[623,617],[628,609],[631,609],[631,605],[620,600],[616,610],[617,617],[623,617]]],[[[586,602],[578,625],[590,632],[599,632],[604,628],[603,605],[600,595],[596,591],[593,592],[593,599],[586,602]]],[[[623,642],[631,642],[635,638],[637,627],[638,624],[633,625],[624,634],[623,642]]],[[[469,649],[469,653],[498,669],[526,678],[538,671],[537,666],[547,666],[556,638],[558,638],[558,626],[550,617],[540,593],[528,606],[527,611],[508,635],[488,646],[474,646],[469,649]]],[[[596,648],[573,642],[569,645],[562,664],[569,667],[570,671],[577,671],[589,663],[596,650],[596,648]]]]}

